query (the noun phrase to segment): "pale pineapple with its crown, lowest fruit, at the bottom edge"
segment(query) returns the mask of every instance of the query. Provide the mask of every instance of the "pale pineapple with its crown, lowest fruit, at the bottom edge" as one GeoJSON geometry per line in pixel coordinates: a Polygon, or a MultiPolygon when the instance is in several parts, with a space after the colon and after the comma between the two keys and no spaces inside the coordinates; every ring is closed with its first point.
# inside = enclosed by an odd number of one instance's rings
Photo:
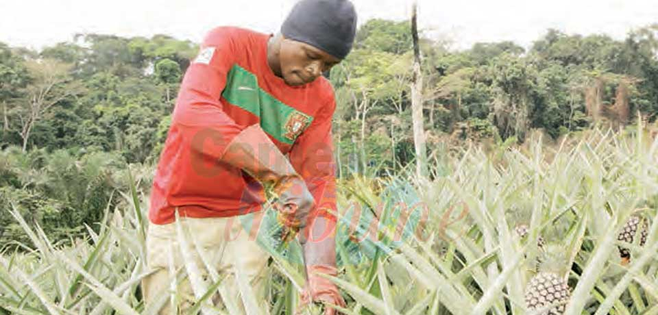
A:
{"type": "Polygon", "coordinates": [[[528,282],[525,301],[528,310],[541,310],[542,315],[561,315],[570,298],[565,279],[570,267],[563,247],[545,246],[537,274],[528,282]]]}

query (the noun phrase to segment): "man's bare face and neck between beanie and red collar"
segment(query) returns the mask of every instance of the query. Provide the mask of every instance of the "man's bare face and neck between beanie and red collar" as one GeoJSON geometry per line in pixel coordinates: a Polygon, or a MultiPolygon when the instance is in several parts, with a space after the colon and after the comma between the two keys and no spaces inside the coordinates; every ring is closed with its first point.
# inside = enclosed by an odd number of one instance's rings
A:
{"type": "Polygon", "coordinates": [[[289,86],[302,86],[315,81],[323,72],[341,60],[305,42],[290,40],[282,34],[267,43],[267,63],[289,86]]]}

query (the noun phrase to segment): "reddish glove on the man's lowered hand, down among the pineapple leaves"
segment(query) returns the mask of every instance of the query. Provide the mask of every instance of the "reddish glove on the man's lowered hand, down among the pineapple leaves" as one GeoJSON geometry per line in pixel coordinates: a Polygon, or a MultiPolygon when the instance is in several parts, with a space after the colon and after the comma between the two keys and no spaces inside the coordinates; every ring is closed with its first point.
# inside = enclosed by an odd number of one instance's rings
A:
{"type": "MultiPolygon", "coordinates": [[[[301,314],[301,310],[311,302],[327,302],[334,305],[339,305],[340,307],[347,306],[345,304],[345,300],[343,300],[343,297],[341,297],[337,286],[331,280],[317,275],[318,273],[324,273],[325,275],[331,275],[333,277],[337,277],[338,275],[337,268],[334,266],[306,266],[308,281],[306,281],[306,286],[302,292],[302,299],[300,301],[300,307],[297,310],[297,314],[301,314]]],[[[335,310],[333,307],[325,307],[324,315],[336,314],[338,314],[337,310],[335,310]]]]}

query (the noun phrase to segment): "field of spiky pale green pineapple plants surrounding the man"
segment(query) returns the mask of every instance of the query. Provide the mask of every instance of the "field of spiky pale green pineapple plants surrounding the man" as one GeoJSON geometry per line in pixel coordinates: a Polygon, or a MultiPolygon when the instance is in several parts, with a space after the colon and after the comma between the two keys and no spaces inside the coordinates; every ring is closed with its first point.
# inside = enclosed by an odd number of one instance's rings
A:
{"type": "MultiPolygon", "coordinates": [[[[410,168],[339,182],[330,278],[342,314],[658,314],[658,140],[648,131],[593,129],[553,144],[533,134],[521,146],[451,152],[433,155],[428,178],[410,168]]],[[[139,287],[150,272],[149,171],[130,173],[99,229],[71,244],[51,242],[15,207],[5,214],[29,241],[0,255],[0,314],[156,314],[139,287]]],[[[277,233],[260,231],[272,253],[267,301],[241,289],[249,314],[295,314],[299,303],[300,247],[277,233]]],[[[158,305],[181,299],[176,287],[197,272],[180,270],[158,305]]],[[[211,274],[193,286],[191,312],[231,314],[210,303],[222,281],[211,274]]],[[[333,306],[302,312],[322,307],[333,306]]]]}

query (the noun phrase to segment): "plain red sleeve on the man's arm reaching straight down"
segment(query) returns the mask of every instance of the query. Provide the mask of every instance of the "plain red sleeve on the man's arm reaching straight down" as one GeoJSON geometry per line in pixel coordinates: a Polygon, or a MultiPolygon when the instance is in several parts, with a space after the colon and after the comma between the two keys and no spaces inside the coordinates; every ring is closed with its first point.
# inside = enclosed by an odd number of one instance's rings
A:
{"type": "Polygon", "coordinates": [[[332,223],[332,231],[337,218],[336,212],[336,176],[331,135],[331,120],[336,108],[333,93],[313,118],[313,123],[304,131],[289,152],[289,158],[295,171],[304,177],[308,190],[315,199],[315,209],[310,214],[309,223],[316,216],[326,216],[332,223]],[[332,212],[328,212],[331,210],[332,212]]]}

